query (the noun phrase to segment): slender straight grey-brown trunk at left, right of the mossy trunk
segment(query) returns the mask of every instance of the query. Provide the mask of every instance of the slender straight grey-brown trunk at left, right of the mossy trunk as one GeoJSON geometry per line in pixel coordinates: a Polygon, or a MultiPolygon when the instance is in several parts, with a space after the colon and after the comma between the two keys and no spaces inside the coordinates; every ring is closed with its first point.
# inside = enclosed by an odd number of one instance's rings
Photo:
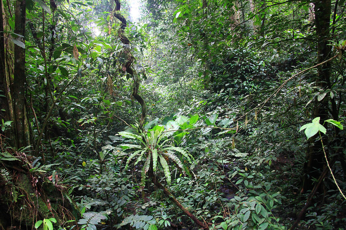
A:
{"type": "MultiPolygon", "coordinates": [[[[15,33],[23,37],[17,38],[25,43],[25,18],[26,18],[25,0],[17,0],[15,7],[15,33]]],[[[25,48],[15,44],[15,63],[13,80],[13,110],[15,114],[17,148],[26,146],[26,111],[25,111],[25,48]]]]}

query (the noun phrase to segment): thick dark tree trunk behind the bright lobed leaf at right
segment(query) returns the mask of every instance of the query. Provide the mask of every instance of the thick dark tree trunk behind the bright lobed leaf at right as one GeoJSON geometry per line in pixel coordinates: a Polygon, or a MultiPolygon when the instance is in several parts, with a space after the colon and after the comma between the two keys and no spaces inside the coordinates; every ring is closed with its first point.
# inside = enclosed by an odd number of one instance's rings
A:
{"type": "MultiPolygon", "coordinates": [[[[323,62],[330,58],[330,14],[331,14],[331,1],[321,0],[315,2],[315,26],[317,37],[317,63],[323,62]]],[[[330,87],[330,62],[327,62],[318,67],[316,86],[326,90],[330,87]]],[[[321,101],[315,100],[313,109],[313,118],[320,117],[321,124],[329,118],[328,114],[328,97],[326,96],[321,101]]],[[[325,124],[326,125],[326,124],[325,124]]],[[[318,135],[318,134],[317,134],[318,135]]],[[[316,140],[314,136],[310,140],[310,148],[308,150],[308,161],[304,167],[305,177],[302,186],[302,192],[312,187],[312,178],[318,178],[320,169],[325,167],[324,153],[320,140],[316,140]],[[317,169],[317,170],[315,170],[317,169]]],[[[324,145],[327,146],[327,136],[323,136],[324,145]]],[[[328,149],[326,149],[328,154],[328,149]]]]}

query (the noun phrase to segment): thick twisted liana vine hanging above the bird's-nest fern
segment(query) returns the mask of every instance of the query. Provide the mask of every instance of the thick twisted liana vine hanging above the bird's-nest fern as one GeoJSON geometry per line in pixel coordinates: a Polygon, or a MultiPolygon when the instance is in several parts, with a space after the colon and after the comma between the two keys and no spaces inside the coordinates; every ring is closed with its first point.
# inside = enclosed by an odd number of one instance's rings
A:
{"type": "Polygon", "coordinates": [[[144,99],[138,94],[138,89],[139,89],[139,77],[137,72],[132,69],[131,64],[135,60],[131,53],[130,49],[130,40],[125,36],[125,28],[127,26],[126,24],[126,19],[124,16],[121,15],[120,13],[120,1],[115,0],[115,12],[114,12],[114,17],[119,19],[120,27],[118,29],[118,38],[120,41],[124,44],[124,51],[122,51],[125,54],[126,61],[122,63],[122,71],[127,72],[133,77],[133,86],[132,86],[132,97],[135,98],[140,106],[142,106],[142,115],[140,117],[140,122],[139,122],[139,128],[143,130],[143,124],[145,121],[146,117],[146,108],[145,108],[145,101],[144,99]]]}

